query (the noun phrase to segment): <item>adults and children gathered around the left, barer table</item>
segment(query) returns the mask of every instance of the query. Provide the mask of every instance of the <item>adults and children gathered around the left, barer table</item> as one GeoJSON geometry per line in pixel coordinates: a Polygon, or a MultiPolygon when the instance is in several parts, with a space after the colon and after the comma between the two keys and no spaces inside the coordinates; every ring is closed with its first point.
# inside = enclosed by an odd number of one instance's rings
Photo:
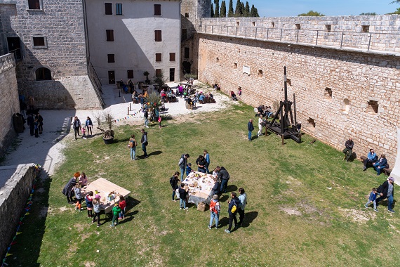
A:
{"type": "MultiPolygon", "coordinates": [[[[83,171],[82,173],[79,173],[78,171],[64,186],[62,189],[62,194],[67,197],[68,204],[75,205],[75,209],[77,211],[82,211],[84,209],[82,207],[82,202],[85,201],[88,218],[92,219],[92,223],[97,221],[97,226],[100,227],[100,211],[103,203],[100,202],[100,195],[94,194],[92,191],[86,192],[84,189],[86,185],[88,185],[88,178],[86,174],[83,171]]],[[[115,197],[116,196],[114,196],[114,198],[115,197]]],[[[112,208],[113,217],[111,226],[116,226],[119,219],[121,220],[125,218],[126,200],[122,195],[119,195],[118,197],[119,202],[115,203],[114,207],[112,208]]]]}

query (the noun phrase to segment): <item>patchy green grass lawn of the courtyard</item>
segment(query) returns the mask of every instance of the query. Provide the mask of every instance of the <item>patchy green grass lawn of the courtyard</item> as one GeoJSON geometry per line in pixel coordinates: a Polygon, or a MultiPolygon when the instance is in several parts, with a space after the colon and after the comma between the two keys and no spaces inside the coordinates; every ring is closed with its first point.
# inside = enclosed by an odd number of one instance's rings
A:
{"type": "MultiPolygon", "coordinates": [[[[253,108],[235,105],[178,123],[148,129],[148,159],[132,162],[128,138],[139,126],[116,129],[117,142],[69,141],[66,161],[36,190],[9,266],[399,266],[400,209],[365,209],[371,188],[386,177],[342,152],[303,136],[301,144],[270,134],[247,141],[253,108]],[[244,226],[227,234],[228,194],[222,196],[218,230],[209,211],[187,212],[171,201],[169,178],[207,149],[211,168],[229,171],[229,190],[248,195],[244,226]],[[128,216],[115,228],[97,228],[67,204],[61,191],[75,171],[103,177],[131,190],[128,216]],[[46,208],[48,212],[46,214],[46,208]],[[98,251],[98,252],[97,252],[98,251]]],[[[184,119],[180,118],[180,121],[184,119]]],[[[255,127],[257,128],[257,127],[255,127]]],[[[257,133],[257,129],[253,131],[257,133]]],[[[141,149],[137,149],[142,155],[141,149]]],[[[395,195],[396,199],[396,195],[395,195]]],[[[101,215],[104,219],[105,215],[101,215]]]]}

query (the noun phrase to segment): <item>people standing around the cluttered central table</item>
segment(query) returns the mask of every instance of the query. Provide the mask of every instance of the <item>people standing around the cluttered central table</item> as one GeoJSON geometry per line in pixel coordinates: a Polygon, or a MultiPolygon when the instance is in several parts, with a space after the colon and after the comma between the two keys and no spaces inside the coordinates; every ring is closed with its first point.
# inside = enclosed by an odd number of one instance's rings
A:
{"type": "MultiPolygon", "coordinates": [[[[186,204],[189,200],[189,188],[185,186],[184,174],[189,175],[192,171],[192,164],[187,162],[189,159],[189,154],[182,154],[180,160],[178,162],[178,166],[180,168],[179,171],[175,171],[175,174],[170,178],[170,184],[172,188],[172,200],[175,200],[175,192],[178,190],[179,198],[180,198],[180,209],[187,210],[186,204]],[[180,176],[180,178],[179,178],[180,176]],[[178,183],[180,182],[180,186],[178,183]]],[[[206,174],[210,174],[208,167],[210,165],[210,155],[207,150],[204,150],[204,155],[199,155],[196,159],[197,171],[203,172],[206,174]]],[[[212,200],[210,203],[210,223],[208,224],[208,228],[213,228],[213,221],[215,221],[215,228],[219,226],[220,219],[220,202],[219,197],[222,193],[227,193],[227,185],[229,181],[229,173],[225,169],[225,167],[217,166],[213,170],[214,177],[214,186],[212,189],[212,200]]],[[[239,197],[237,197],[235,192],[231,194],[231,200],[228,201],[228,214],[229,214],[229,226],[225,229],[226,233],[231,233],[232,223],[234,223],[234,229],[241,226],[241,223],[244,220],[244,209],[247,204],[247,197],[244,191],[244,188],[239,188],[239,197]],[[239,222],[236,219],[236,214],[239,214],[239,222]]]]}

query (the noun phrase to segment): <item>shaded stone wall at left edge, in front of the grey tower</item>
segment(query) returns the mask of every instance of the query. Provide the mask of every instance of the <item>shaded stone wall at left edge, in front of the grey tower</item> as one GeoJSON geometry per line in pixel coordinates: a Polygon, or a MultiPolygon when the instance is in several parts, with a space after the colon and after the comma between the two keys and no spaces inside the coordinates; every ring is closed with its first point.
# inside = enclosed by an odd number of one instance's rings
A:
{"type": "Polygon", "coordinates": [[[13,115],[20,112],[18,86],[15,79],[13,54],[0,56],[0,157],[4,155],[16,136],[13,129],[13,115]]]}

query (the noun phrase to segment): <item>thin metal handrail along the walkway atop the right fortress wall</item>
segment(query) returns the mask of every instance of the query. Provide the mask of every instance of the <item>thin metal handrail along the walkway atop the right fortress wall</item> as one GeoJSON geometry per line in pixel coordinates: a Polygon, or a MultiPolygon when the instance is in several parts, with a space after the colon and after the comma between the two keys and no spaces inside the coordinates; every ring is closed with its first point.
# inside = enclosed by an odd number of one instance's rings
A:
{"type": "Polygon", "coordinates": [[[400,33],[336,32],[328,30],[299,30],[255,26],[206,25],[205,23],[196,24],[195,29],[197,32],[205,34],[285,41],[293,44],[360,48],[366,51],[400,52],[400,33]],[[214,30],[216,27],[218,27],[218,30],[214,30]],[[355,38],[355,36],[357,37],[355,38]]]}

